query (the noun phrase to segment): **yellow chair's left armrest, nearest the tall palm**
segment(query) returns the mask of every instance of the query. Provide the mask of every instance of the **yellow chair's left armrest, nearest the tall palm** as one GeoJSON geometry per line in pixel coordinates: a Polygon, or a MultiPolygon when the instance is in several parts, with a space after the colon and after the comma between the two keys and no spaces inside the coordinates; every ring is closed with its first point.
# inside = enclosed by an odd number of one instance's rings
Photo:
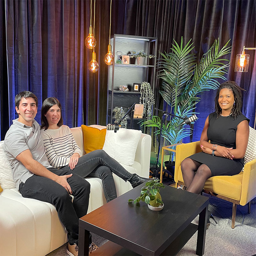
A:
{"type": "Polygon", "coordinates": [[[174,180],[178,181],[178,172],[181,162],[188,156],[201,152],[200,141],[184,143],[176,146],[174,180]]]}

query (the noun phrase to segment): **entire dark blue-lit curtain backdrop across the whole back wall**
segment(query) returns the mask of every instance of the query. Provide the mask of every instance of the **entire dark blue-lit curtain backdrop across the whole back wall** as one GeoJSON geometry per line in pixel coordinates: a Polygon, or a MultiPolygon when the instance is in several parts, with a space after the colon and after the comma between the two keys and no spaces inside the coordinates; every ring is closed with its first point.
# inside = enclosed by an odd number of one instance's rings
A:
{"type": "MultiPolygon", "coordinates": [[[[92,1],[93,2],[93,1],[92,1]]],[[[92,52],[84,47],[90,26],[90,1],[6,0],[0,2],[0,130],[1,140],[16,118],[14,96],[30,90],[42,101],[57,97],[63,106],[64,123],[106,124],[107,70],[103,62],[108,44],[110,0],[96,0],[95,48],[100,69],[92,74],[87,64],[92,52]],[[5,29],[6,28],[6,29],[5,29]]],[[[244,92],[243,113],[253,126],[256,107],[255,51],[248,73],[235,73],[235,57],[256,46],[256,1],[254,0],[118,0],[112,1],[111,34],[158,37],[158,50],[168,52],[173,39],[194,42],[198,58],[215,38],[223,46],[231,38],[232,52],[227,79],[244,92]]],[[[160,54],[158,54],[158,58],[160,54]]],[[[160,83],[156,80],[157,106],[160,83]]],[[[193,140],[200,138],[204,120],[214,111],[215,91],[200,95],[199,120],[193,140]]],[[[186,140],[185,140],[186,141],[186,140]]],[[[189,139],[187,140],[189,141],[189,139]]]]}

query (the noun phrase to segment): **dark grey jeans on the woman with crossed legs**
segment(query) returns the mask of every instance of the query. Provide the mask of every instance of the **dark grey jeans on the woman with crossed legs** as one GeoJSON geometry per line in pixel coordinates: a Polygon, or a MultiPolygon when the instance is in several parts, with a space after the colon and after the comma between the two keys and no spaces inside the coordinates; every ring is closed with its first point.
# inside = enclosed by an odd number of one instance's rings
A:
{"type": "Polygon", "coordinates": [[[132,178],[132,173],[126,171],[122,165],[102,149],[94,150],[79,157],[78,163],[73,170],[70,170],[68,165],[62,167],[61,170],[68,170],[83,178],[100,178],[107,202],[116,198],[116,186],[112,172],[125,181],[132,178]]]}

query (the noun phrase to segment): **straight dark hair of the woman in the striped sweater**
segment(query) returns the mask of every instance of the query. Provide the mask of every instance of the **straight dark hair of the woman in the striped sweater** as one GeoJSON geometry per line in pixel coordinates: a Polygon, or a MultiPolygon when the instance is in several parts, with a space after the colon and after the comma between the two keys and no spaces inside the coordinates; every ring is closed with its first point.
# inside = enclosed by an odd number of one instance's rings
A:
{"type": "Polygon", "coordinates": [[[57,126],[61,126],[63,124],[62,114],[61,114],[61,104],[60,101],[54,97],[47,98],[44,100],[41,108],[41,129],[47,130],[49,127],[48,121],[46,116],[44,116],[47,111],[52,108],[53,105],[58,105],[60,108],[60,121],[58,122],[57,126]]]}

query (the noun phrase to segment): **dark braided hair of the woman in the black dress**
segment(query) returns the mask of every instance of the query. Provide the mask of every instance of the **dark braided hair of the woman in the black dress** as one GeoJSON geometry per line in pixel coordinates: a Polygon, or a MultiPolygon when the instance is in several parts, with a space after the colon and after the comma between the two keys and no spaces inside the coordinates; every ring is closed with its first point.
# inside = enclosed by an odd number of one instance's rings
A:
{"type": "Polygon", "coordinates": [[[234,100],[235,104],[233,108],[231,109],[231,115],[234,117],[234,120],[237,118],[237,116],[241,113],[241,108],[243,106],[243,101],[242,101],[242,91],[245,91],[243,88],[239,87],[238,84],[234,81],[226,81],[222,84],[220,84],[219,89],[217,90],[216,97],[215,97],[215,110],[217,113],[217,118],[220,117],[221,115],[221,108],[219,105],[219,95],[220,95],[220,90],[223,88],[227,88],[231,90],[234,94],[234,100]]]}

